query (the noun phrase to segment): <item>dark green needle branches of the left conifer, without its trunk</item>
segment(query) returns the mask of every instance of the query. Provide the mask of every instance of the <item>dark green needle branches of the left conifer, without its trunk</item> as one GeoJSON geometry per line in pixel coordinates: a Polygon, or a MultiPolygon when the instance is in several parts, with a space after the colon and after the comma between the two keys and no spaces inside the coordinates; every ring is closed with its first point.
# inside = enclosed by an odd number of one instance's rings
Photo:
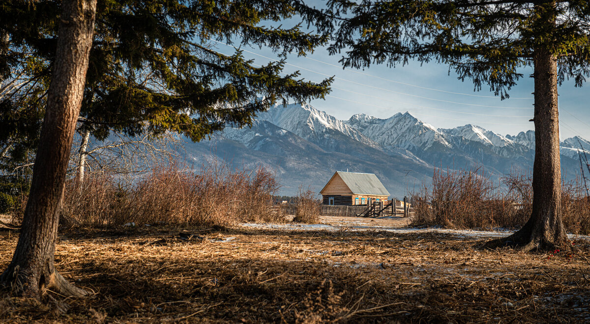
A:
{"type": "MultiPolygon", "coordinates": [[[[0,72],[25,67],[48,86],[61,1],[11,0],[0,5],[0,72]],[[8,44],[6,44],[8,42],[8,44]],[[25,51],[32,53],[32,60],[25,51]]],[[[139,135],[173,131],[201,140],[228,123],[250,125],[255,113],[277,100],[323,97],[330,80],[312,83],[299,73],[282,76],[284,62],[257,66],[241,51],[219,53],[217,41],[269,47],[279,55],[304,55],[327,35],[264,27],[298,15],[327,24],[319,11],[297,0],[100,0],[81,108],[81,132],[104,139],[109,129],[139,135]],[[263,99],[260,99],[263,98],[263,99]]],[[[31,81],[33,82],[33,81],[31,81]]],[[[26,104],[13,104],[14,110],[26,104]]],[[[40,103],[35,102],[37,106],[40,103]]],[[[2,140],[2,138],[0,138],[2,140]]]]}

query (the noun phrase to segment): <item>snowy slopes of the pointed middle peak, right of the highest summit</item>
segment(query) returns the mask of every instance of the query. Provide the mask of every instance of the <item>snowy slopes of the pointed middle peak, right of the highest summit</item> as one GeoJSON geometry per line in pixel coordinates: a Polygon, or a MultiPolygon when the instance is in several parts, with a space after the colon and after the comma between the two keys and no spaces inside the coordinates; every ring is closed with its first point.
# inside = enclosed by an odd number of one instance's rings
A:
{"type": "Polygon", "coordinates": [[[396,113],[388,119],[355,115],[348,120],[350,125],[366,126],[363,135],[383,146],[402,149],[428,149],[435,143],[451,148],[444,136],[432,125],[423,123],[408,112],[396,113]],[[360,117],[360,118],[359,118],[360,117]],[[373,118],[373,119],[372,119],[373,118]]]}

